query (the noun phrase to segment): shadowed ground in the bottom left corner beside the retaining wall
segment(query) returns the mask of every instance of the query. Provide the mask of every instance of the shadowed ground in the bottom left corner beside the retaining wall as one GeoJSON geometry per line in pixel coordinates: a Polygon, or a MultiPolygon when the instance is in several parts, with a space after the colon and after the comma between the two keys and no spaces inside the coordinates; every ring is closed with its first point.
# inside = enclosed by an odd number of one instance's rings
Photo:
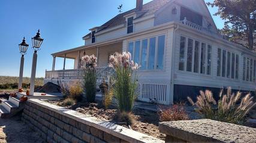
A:
{"type": "Polygon", "coordinates": [[[0,119],[0,143],[41,143],[40,135],[28,127],[22,120],[21,114],[10,119],[0,119]]]}

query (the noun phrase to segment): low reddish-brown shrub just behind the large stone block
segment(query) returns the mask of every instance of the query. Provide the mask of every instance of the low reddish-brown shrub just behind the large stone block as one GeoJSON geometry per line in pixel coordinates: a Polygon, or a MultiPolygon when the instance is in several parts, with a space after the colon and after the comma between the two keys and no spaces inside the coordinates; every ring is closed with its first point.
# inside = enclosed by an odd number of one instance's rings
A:
{"type": "Polygon", "coordinates": [[[159,120],[161,122],[188,120],[188,114],[181,105],[174,104],[170,108],[160,108],[159,120]]]}

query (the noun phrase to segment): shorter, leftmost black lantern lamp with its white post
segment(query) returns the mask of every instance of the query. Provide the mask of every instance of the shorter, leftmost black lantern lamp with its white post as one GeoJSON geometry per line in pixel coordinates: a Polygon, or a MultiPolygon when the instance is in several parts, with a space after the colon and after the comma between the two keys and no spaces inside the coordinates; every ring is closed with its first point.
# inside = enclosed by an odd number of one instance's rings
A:
{"type": "Polygon", "coordinates": [[[25,37],[22,40],[22,43],[19,44],[20,54],[22,57],[20,58],[20,76],[19,76],[19,92],[22,92],[22,78],[23,78],[23,67],[24,67],[24,55],[26,54],[26,50],[28,49],[28,44],[26,43],[25,37]]]}

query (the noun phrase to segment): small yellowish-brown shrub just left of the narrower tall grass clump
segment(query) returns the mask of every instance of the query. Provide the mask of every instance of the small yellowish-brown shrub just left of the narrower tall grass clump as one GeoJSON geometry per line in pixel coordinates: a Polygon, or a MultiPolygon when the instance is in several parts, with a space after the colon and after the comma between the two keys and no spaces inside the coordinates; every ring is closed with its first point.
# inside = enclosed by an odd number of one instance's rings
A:
{"type": "Polygon", "coordinates": [[[80,83],[74,83],[74,85],[70,86],[70,95],[68,95],[69,98],[80,101],[82,100],[82,94],[83,88],[80,83]]]}

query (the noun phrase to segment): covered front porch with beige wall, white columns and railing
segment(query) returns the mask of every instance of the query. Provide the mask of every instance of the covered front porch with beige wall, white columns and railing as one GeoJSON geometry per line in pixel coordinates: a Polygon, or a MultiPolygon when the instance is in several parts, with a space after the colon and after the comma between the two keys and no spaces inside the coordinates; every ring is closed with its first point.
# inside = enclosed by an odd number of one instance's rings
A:
{"type": "MultiPolygon", "coordinates": [[[[123,42],[115,41],[111,43],[101,43],[101,44],[93,44],[93,45],[85,45],[80,46],[78,48],[56,52],[52,54],[53,63],[52,70],[46,71],[46,79],[82,79],[85,73],[85,70],[82,69],[83,61],[81,58],[83,55],[92,55],[94,54],[98,59],[98,67],[97,71],[101,72],[106,69],[109,63],[109,56],[115,52],[123,51],[123,42]],[[56,58],[63,58],[63,69],[55,70],[56,58]],[[66,69],[66,61],[67,59],[73,59],[74,68],[66,69]]],[[[59,64],[59,63],[58,63],[59,64]]]]}

